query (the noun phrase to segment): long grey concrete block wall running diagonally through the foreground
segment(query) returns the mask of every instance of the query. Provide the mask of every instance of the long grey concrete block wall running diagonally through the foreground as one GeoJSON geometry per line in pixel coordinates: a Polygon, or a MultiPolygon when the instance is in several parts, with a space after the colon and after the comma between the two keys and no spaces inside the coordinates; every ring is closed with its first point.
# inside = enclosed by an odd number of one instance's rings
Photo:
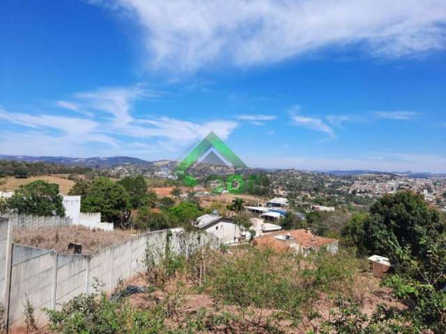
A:
{"type": "MultiPolygon", "coordinates": [[[[95,278],[105,284],[102,287],[105,292],[113,292],[121,280],[128,280],[145,270],[143,261],[146,247],[164,251],[168,233],[167,230],[162,230],[141,234],[121,245],[103,249],[91,257],[56,254],[52,250],[14,244],[12,264],[9,266],[10,290],[6,289],[6,294],[10,295],[10,326],[24,320],[26,296],[36,309],[35,315],[40,324],[45,324],[43,308],[57,310],[62,303],[73,297],[92,292],[95,278]]],[[[1,241],[1,236],[5,234],[10,235],[10,225],[7,221],[0,221],[1,254],[6,247],[1,241]],[[9,232],[1,233],[8,228],[9,232]]],[[[219,240],[212,234],[199,232],[176,230],[171,234],[171,250],[186,256],[205,244],[217,247],[219,240]]],[[[0,275],[6,277],[1,269],[0,275]]]]}

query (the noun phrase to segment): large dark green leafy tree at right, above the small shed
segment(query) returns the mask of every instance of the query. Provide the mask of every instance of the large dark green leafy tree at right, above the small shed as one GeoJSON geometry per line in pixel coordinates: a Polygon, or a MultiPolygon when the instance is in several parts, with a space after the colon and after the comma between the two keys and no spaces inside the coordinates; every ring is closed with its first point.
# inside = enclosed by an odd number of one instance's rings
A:
{"type": "Polygon", "coordinates": [[[362,242],[370,253],[395,258],[397,252],[408,248],[411,255],[422,257],[426,256],[426,240],[445,230],[439,212],[420,194],[400,191],[383,196],[370,207],[362,242]]]}

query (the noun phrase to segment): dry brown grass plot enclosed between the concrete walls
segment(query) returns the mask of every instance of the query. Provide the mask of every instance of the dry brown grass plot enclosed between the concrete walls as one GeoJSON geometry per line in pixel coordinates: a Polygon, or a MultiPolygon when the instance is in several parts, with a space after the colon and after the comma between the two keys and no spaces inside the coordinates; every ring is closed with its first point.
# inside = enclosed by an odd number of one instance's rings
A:
{"type": "Polygon", "coordinates": [[[81,226],[63,228],[40,228],[36,230],[13,230],[16,244],[54,249],[57,253],[68,253],[68,244],[82,244],[83,255],[93,255],[103,248],[122,244],[132,236],[120,230],[107,232],[89,230],[81,226]]]}

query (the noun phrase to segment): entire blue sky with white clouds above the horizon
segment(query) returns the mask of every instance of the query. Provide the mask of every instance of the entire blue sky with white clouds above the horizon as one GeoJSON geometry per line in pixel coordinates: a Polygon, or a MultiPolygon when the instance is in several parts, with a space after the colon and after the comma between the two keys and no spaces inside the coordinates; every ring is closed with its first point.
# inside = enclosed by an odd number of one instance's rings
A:
{"type": "Polygon", "coordinates": [[[0,154],[446,173],[446,2],[6,1],[0,154]],[[373,3],[372,3],[373,2],[373,3]]]}

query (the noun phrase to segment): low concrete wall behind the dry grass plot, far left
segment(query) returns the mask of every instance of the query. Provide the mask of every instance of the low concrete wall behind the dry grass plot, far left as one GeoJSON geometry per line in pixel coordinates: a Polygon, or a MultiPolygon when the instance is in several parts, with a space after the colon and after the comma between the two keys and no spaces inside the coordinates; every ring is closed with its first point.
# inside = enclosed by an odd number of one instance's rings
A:
{"type": "Polygon", "coordinates": [[[13,228],[54,228],[72,224],[70,217],[34,216],[33,214],[17,214],[0,212],[0,217],[9,218],[13,228]]]}

